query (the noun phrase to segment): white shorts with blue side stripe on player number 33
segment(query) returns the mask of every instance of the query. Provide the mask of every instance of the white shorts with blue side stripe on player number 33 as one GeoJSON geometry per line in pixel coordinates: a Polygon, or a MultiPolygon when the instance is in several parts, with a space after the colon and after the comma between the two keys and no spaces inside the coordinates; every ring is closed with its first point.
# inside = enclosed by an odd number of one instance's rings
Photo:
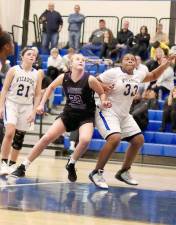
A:
{"type": "Polygon", "coordinates": [[[130,114],[119,118],[111,109],[97,108],[95,124],[104,139],[113,133],[121,133],[121,139],[141,133],[141,129],[130,114]]]}

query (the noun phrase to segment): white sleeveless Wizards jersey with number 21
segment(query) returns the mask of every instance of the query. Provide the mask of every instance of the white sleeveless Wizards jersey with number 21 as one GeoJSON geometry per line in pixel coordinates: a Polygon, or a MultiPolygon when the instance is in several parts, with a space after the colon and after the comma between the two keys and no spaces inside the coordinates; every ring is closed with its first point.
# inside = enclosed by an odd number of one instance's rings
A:
{"type": "Polygon", "coordinates": [[[14,66],[14,78],[6,99],[18,104],[33,104],[35,88],[38,80],[37,70],[26,72],[19,65],[14,66]]]}

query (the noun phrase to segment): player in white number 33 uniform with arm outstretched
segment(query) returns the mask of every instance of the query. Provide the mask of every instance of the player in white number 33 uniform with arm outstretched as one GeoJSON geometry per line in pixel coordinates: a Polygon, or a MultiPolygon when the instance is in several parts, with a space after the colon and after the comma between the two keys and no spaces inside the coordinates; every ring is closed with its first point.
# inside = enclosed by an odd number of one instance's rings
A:
{"type": "Polygon", "coordinates": [[[108,94],[112,107],[107,109],[97,108],[96,110],[96,126],[102,137],[106,139],[106,144],[99,154],[96,168],[89,174],[90,180],[96,186],[108,188],[103,178],[104,166],[121,139],[128,141],[129,146],[122,168],[117,172],[115,178],[130,185],[138,184],[131,177],[129,169],[144,143],[144,137],[137,123],[129,114],[129,110],[138,91],[139,84],[157,80],[174,58],[176,56],[170,56],[167,62],[150,73],[137,70],[133,73],[136,66],[135,56],[126,54],[122,59],[121,67],[112,68],[98,76],[99,81],[107,83],[113,88],[108,94]]]}

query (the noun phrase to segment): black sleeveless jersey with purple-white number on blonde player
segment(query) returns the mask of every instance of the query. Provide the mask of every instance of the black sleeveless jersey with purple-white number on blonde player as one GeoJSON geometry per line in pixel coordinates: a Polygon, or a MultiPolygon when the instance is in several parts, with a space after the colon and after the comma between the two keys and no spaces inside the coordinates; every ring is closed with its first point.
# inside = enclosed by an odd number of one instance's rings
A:
{"type": "Polygon", "coordinates": [[[64,112],[91,114],[95,112],[94,91],[89,87],[89,75],[74,82],[71,79],[71,72],[67,72],[63,79],[63,90],[66,95],[64,112]]]}

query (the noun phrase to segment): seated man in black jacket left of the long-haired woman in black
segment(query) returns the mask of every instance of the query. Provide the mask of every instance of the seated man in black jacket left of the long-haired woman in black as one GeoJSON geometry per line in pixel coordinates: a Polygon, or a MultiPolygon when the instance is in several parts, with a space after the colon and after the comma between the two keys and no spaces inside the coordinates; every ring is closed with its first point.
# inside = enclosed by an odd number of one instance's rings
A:
{"type": "Polygon", "coordinates": [[[118,32],[117,35],[117,45],[111,51],[111,58],[116,57],[117,61],[120,61],[121,58],[128,52],[128,48],[131,47],[133,41],[133,32],[129,29],[129,22],[125,20],[123,22],[122,29],[118,32]]]}

